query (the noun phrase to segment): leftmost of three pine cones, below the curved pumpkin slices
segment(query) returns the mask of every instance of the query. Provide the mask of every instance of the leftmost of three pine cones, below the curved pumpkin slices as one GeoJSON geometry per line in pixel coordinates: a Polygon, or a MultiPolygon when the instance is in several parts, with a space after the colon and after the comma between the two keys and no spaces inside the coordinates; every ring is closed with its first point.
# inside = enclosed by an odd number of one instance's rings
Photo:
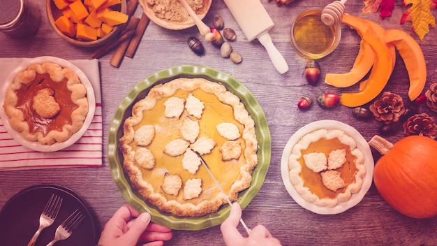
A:
{"type": "Polygon", "coordinates": [[[405,113],[405,106],[403,106],[401,96],[392,92],[384,92],[380,99],[371,104],[369,109],[376,120],[385,124],[397,122],[399,117],[405,113]]]}

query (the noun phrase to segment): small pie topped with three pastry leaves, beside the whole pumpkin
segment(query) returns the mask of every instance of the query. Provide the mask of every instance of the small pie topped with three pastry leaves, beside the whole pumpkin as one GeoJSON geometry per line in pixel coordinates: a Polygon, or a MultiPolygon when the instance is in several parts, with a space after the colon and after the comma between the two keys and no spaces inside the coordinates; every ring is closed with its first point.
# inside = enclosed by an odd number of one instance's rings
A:
{"type": "Polygon", "coordinates": [[[305,201],[332,208],[362,188],[364,154],[339,129],[307,133],[292,147],[289,178],[305,201]]]}

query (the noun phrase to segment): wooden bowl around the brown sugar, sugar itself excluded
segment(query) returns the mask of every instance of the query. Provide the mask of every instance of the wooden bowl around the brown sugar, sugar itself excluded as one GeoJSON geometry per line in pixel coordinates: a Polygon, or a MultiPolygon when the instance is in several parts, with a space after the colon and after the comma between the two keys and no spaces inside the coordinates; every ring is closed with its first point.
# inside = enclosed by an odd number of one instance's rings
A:
{"type": "MultiPolygon", "coordinates": [[[[235,0],[235,1],[237,1],[237,0],[235,0]]],[[[154,10],[152,9],[153,6],[147,4],[146,0],[140,0],[139,3],[140,3],[140,6],[142,7],[142,10],[147,15],[147,17],[149,17],[149,19],[152,22],[154,22],[158,26],[163,27],[165,29],[182,30],[182,29],[187,29],[189,27],[193,27],[195,25],[195,23],[194,23],[193,19],[191,19],[191,17],[188,17],[188,20],[186,20],[185,22],[175,22],[175,21],[171,21],[171,20],[165,20],[165,19],[160,18],[156,15],[154,10]]],[[[205,17],[205,15],[207,15],[209,8],[211,7],[211,3],[212,3],[212,0],[203,0],[202,8],[199,8],[198,10],[195,11],[196,15],[198,15],[200,20],[202,20],[205,17]]],[[[180,5],[180,6],[182,9],[184,9],[184,7],[182,5],[180,5]]]]}

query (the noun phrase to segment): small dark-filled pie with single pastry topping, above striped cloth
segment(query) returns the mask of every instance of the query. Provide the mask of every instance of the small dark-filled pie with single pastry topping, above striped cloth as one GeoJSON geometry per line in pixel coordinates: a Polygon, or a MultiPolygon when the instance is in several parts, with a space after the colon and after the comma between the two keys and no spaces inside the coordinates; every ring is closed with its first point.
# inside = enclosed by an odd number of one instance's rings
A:
{"type": "Polygon", "coordinates": [[[79,131],[88,113],[87,91],[70,68],[46,62],[17,73],[4,109],[10,126],[29,141],[64,142],[79,131]]]}

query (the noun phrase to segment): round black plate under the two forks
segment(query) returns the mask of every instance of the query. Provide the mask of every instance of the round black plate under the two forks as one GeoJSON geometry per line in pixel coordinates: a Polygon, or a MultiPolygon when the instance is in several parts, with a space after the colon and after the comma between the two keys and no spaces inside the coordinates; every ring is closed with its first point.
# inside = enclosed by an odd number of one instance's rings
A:
{"type": "Polygon", "coordinates": [[[84,221],[70,238],[59,241],[56,245],[96,245],[94,217],[91,216],[87,205],[80,196],[70,189],[55,185],[32,186],[10,198],[0,211],[0,245],[27,245],[38,229],[40,214],[52,194],[57,194],[63,198],[61,209],[54,223],[40,233],[35,246],[47,245],[53,239],[54,231],[59,224],[76,209],[85,215],[84,221]]]}

